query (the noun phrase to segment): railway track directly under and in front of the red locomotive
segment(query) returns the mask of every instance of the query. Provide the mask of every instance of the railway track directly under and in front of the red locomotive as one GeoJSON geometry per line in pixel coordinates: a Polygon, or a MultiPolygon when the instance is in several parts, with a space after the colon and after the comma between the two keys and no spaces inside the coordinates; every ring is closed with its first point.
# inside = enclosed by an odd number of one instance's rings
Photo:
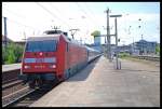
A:
{"type": "Polygon", "coordinates": [[[21,88],[17,91],[15,95],[10,95],[9,98],[2,98],[3,107],[28,107],[36,100],[38,100],[41,96],[46,94],[53,87],[58,85],[58,83],[54,83],[53,86],[43,86],[41,88],[31,90],[29,86],[21,88]]]}

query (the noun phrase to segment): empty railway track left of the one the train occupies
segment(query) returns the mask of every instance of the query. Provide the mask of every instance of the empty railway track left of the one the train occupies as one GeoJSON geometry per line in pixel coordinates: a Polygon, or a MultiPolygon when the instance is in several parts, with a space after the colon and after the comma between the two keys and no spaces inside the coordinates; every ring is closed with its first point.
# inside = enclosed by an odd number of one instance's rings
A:
{"type": "Polygon", "coordinates": [[[2,106],[27,92],[28,86],[24,85],[23,81],[17,78],[19,70],[14,69],[2,72],[2,106]]]}

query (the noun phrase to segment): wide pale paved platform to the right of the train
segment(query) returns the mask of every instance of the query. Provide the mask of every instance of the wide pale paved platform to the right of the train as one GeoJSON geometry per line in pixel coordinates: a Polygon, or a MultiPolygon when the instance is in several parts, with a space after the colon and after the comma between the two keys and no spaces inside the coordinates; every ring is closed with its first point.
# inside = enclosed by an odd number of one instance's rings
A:
{"type": "Polygon", "coordinates": [[[100,56],[30,107],[160,107],[160,66],[100,56]]]}

